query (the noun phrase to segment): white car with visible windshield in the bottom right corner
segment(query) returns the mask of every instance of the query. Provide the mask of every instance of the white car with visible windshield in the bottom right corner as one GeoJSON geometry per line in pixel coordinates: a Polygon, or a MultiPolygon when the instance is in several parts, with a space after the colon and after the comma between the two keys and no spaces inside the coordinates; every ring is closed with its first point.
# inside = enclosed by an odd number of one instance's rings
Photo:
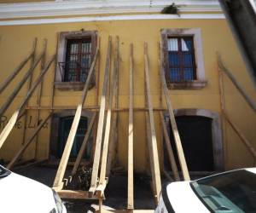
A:
{"type": "Polygon", "coordinates": [[[256,168],[232,170],[162,187],[155,213],[255,213],[256,168]]]}

